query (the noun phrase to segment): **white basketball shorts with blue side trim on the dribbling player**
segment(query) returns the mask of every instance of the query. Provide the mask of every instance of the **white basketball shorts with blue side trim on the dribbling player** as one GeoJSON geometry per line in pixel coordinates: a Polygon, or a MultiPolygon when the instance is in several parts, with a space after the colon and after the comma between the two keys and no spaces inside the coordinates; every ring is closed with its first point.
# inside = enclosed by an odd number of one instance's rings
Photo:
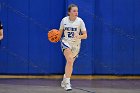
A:
{"type": "Polygon", "coordinates": [[[66,39],[61,40],[62,52],[64,52],[65,49],[70,48],[74,58],[78,57],[80,46],[81,46],[81,42],[79,41],[70,41],[66,39]]]}

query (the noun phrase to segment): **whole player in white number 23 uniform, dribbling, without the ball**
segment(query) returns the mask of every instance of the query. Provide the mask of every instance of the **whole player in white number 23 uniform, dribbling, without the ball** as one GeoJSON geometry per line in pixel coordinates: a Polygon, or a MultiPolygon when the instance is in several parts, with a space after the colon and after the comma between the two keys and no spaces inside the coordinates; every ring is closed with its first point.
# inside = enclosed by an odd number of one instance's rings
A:
{"type": "Polygon", "coordinates": [[[85,23],[78,17],[77,5],[69,5],[68,16],[62,19],[59,30],[61,36],[64,33],[64,37],[62,36],[61,40],[61,47],[67,61],[61,87],[69,91],[72,90],[70,78],[73,71],[73,63],[80,50],[81,39],[87,38],[85,23]],[[80,34],[80,31],[82,34],[80,34]]]}

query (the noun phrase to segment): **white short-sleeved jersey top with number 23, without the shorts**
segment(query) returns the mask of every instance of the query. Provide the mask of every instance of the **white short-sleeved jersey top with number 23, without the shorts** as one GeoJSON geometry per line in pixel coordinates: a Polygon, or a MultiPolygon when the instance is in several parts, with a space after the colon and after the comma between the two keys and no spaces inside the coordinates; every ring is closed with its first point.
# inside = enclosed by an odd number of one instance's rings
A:
{"type": "Polygon", "coordinates": [[[60,29],[64,30],[63,38],[69,41],[75,41],[75,35],[79,34],[80,31],[86,31],[85,23],[81,18],[77,17],[75,21],[70,21],[69,16],[62,19],[60,29]]]}

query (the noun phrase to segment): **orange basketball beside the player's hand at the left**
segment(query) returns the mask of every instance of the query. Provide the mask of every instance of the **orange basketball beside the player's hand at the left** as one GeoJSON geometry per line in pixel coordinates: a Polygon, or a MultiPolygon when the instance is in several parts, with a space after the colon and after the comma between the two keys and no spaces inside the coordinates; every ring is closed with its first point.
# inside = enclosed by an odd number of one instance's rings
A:
{"type": "Polygon", "coordinates": [[[48,32],[48,39],[50,42],[58,42],[60,40],[60,31],[57,29],[52,29],[48,32]]]}

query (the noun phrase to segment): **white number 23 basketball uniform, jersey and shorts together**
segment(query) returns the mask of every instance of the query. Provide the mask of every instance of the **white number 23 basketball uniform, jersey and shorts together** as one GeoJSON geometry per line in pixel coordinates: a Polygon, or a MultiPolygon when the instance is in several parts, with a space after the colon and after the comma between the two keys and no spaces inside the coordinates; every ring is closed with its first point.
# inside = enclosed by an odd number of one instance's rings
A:
{"type": "Polygon", "coordinates": [[[70,21],[69,16],[67,16],[62,19],[60,29],[64,30],[64,37],[61,41],[62,51],[64,52],[66,48],[70,48],[73,57],[77,57],[80,51],[81,40],[75,40],[74,36],[79,34],[80,31],[86,31],[85,23],[79,17],[75,21],[70,21]]]}

